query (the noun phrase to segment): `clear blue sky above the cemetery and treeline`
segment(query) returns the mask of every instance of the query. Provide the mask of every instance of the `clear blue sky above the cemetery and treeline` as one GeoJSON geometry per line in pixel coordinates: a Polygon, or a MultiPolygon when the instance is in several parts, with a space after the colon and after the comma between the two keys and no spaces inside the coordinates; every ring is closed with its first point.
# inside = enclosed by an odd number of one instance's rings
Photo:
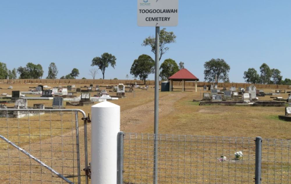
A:
{"type": "MultiPolygon", "coordinates": [[[[212,58],[230,65],[231,82],[244,82],[243,73],[262,63],[291,78],[291,1],[179,1],[177,27],[167,27],[176,43],[162,56],[184,62],[200,81],[203,64],[212,58]]],[[[45,78],[55,62],[58,78],[78,68],[77,78],[89,75],[91,61],[108,52],[116,56],[106,79],[126,79],[141,54],[141,46],[155,27],[137,26],[137,1],[0,1],[0,62],[8,69],[41,64],[45,78]]],[[[162,29],[163,27],[161,27],[162,29]]],[[[102,77],[98,70],[96,78],[102,77]]],[[[150,75],[149,79],[154,79],[150,75]]]]}

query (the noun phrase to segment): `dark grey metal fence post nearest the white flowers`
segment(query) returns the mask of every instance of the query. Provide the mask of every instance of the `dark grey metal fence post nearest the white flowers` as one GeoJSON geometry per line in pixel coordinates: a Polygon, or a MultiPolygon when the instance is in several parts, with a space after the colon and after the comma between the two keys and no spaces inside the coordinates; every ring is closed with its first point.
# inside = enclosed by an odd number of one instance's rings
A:
{"type": "Polygon", "coordinates": [[[261,183],[262,138],[255,138],[255,184],[261,183]]]}

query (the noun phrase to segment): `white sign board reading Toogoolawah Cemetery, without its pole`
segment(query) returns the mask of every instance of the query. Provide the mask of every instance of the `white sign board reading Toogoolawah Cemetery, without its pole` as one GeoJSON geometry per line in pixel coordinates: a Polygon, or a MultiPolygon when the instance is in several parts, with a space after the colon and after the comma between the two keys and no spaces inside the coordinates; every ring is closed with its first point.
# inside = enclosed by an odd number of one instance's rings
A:
{"type": "Polygon", "coordinates": [[[178,0],[137,0],[138,26],[177,26],[178,0]]]}

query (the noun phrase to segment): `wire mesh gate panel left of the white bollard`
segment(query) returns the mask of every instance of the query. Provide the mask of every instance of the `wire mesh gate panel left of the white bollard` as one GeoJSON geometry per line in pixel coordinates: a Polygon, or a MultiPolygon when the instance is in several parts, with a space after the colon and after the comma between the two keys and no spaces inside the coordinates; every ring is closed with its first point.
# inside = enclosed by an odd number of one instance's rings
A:
{"type": "Polygon", "coordinates": [[[0,183],[80,183],[78,110],[58,110],[0,109],[0,183]]]}

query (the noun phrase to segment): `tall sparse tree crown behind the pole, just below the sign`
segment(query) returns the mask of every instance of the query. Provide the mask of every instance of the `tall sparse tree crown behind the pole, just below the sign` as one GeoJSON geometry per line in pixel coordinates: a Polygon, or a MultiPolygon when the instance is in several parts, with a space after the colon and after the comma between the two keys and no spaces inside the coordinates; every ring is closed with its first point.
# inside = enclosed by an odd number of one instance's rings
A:
{"type": "MultiPolygon", "coordinates": [[[[156,40],[155,37],[149,36],[143,40],[143,43],[141,44],[141,46],[150,46],[152,48],[151,51],[154,54],[156,54],[156,41],[155,40],[156,40]]],[[[164,55],[164,53],[166,53],[169,50],[169,48],[165,47],[165,45],[170,44],[170,43],[175,43],[175,42],[176,42],[176,36],[174,35],[172,31],[167,32],[166,28],[163,28],[160,31],[159,60],[161,60],[162,55],[164,55]]]]}

